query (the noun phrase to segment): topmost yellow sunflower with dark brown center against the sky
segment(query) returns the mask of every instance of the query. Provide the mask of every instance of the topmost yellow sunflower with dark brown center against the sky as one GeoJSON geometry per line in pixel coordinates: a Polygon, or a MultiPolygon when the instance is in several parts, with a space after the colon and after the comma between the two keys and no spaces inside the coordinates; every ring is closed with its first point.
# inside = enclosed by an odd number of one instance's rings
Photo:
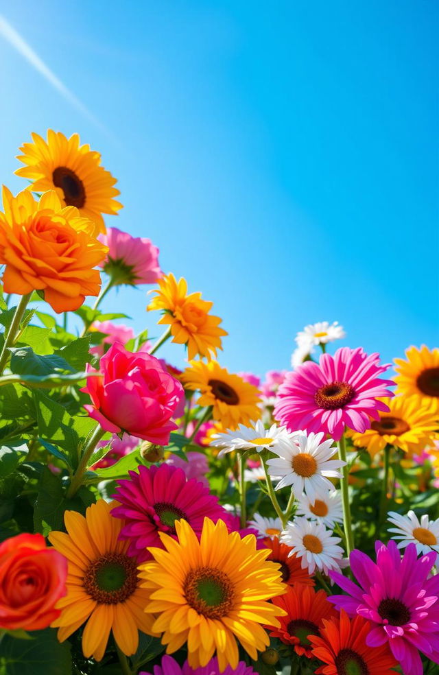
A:
{"type": "Polygon", "coordinates": [[[20,148],[23,154],[17,159],[25,166],[16,175],[32,180],[29,190],[55,190],[62,204],[76,206],[81,215],[95,222],[96,234],[105,233],[102,213],[115,214],[122,204],[113,199],[120,194],[113,187],[117,181],[100,165],[99,152],[80,145],[78,134],[67,139],[49,129],[47,142],[35,133],[32,139],[34,143],[23,143],[20,148]]]}

